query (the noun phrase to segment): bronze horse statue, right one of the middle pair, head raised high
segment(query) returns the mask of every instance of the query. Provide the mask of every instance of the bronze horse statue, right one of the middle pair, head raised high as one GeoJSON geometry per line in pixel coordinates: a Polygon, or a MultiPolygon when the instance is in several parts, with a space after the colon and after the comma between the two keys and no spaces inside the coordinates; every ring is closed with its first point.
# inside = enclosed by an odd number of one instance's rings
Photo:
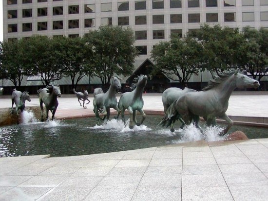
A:
{"type": "MultiPolygon", "coordinates": [[[[141,125],[146,118],[146,115],[142,110],[144,104],[142,93],[144,91],[145,85],[147,84],[147,79],[148,77],[146,75],[140,75],[135,78],[134,80],[137,82],[133,85],[135,89],[132,92],[125,92],[119,99],[118,107],[121,111],[122,121],[125,122],[125,110],[128,109],[130,112],[130,129],[133,129],[134,125],[141,125]],[[140,123],[138,123],[136,120],[136,111],[139,111],[139,113],[142,115],[142,120],[140,123]]],[[[120,112],[118,112],[117,118],[119,117],[119,114],[120,112]]]]}

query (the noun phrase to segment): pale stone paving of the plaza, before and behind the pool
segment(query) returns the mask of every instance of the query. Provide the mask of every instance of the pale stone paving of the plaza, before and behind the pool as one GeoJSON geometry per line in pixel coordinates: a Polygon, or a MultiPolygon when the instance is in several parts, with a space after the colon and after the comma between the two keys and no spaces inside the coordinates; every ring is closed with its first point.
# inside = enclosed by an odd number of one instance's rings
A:
{"type": "MultiPolygon", "coordinates": [[[[91,101],[93,98],[89,98],[91,101]]],[[[57,118],[93,113],[75,95],[58,99],[57,118]]],[[[161,94],[144,109],[163,111],[161,94]]],[[[228,115],[268,117],[268,93],[237,92],[228,115]]],[[[38,99],[26,106],[38,105],[38,99]]],[[[0,108],[11,100],[0,99],[0,108]]],[[[267,129],[268,131],[268,129],[267,129]]],[[[0,158],[0,201],[267,201],[268,139],[193,141],[122,152],[0,158]]]]}

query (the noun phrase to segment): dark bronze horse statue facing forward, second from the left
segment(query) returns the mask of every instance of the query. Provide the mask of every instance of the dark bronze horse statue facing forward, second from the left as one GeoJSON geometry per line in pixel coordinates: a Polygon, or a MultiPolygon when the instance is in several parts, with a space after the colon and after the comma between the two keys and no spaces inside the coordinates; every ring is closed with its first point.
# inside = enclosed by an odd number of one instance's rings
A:
{"type": "Polygon", "coordinates": [[[41,121],[43,121],[43,103],[46,106],[46,121],[48,120],[48,112],[51,111],[53,121],[58,106],[57,97],[61,97],[60,88],[58,85],[48,85],[46,88],[37,91],[41,108],[41,121]]]}

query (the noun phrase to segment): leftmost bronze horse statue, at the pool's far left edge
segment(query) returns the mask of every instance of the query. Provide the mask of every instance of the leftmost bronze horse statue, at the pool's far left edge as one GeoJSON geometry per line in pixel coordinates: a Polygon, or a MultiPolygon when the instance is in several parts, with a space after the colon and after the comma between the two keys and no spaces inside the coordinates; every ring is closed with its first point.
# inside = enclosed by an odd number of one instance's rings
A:
{"type": "Polygon", "coordinates": [[[17,115],[19,113],[19,109],[21,112],[25,109],[25,101],[26,100],[31,102],[31,98],[30,98],[28,92],[24,91],[23,93],[21,93],[21,91],[17,91],[16,89],[13,89],[12,98],[11,98],[12,110],[13,110],[13,105],[15,103],[15,105],[16,105],[15,111],[16,111],[17,115]]]}

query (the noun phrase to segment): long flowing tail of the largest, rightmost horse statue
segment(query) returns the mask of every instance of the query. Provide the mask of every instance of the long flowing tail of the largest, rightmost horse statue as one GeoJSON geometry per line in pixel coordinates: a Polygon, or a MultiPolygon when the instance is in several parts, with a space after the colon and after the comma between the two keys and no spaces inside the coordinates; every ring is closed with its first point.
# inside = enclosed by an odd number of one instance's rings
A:
{"type": "Polygon", "coordinates": [[[176,121],[179,119],[179,113],[176,110],[176,101],[174,101],[169,108],[167,109],[163,119],[158,125],[161,126],[170,126],[172,122],[176,121]]]}

